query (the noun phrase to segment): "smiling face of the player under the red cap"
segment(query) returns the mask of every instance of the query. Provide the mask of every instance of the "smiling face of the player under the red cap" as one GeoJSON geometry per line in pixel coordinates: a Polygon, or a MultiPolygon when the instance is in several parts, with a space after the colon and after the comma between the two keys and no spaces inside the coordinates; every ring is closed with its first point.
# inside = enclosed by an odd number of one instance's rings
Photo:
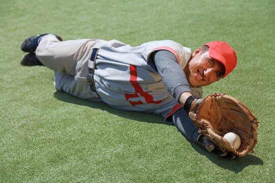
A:
{"type": "Polygon", "coordinates": [[[184,71],[189,84],[194,87],[206,86],[218,81],[223,77],[225,68],[222,63],[209,57],[208,51],[201,53],[201,48],[198,48],[184,71]]]}

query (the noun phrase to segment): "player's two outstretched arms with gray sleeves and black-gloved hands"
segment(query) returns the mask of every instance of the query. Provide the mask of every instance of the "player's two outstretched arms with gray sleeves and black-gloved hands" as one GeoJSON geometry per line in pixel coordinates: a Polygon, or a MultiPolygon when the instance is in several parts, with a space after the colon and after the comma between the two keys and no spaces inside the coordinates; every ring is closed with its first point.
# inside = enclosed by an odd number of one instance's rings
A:
{"type": "Polygon", "coordinates": [[[213,143],[199,134],[192,121],[193,118],[188,115],[189,111],[195,114],[201,99],[193,97],[185,73],[179,66],[176,56],[170,51],[160,50],[152,54],[151,59],[168,91],[175,100],[184,106],[172,114],[177,129],[191,141],[201,144],[208,151],[212,151],[214,149],[213,143]]]}

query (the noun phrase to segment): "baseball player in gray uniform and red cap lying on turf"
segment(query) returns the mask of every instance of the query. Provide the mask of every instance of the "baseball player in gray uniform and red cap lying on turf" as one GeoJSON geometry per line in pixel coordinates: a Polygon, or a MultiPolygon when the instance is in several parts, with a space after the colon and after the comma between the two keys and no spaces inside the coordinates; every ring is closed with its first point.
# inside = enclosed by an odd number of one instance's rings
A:
{"type": "Polygon", "coordinates": [[[214,149],[188,113],[196,111],[202,86],[235,68],[236,53],[226,42],[213,41],[192,53],[171,40],[132,47],[117,40],[63,41],[41,34],[26,39],[21,49],[30,52],[21,65],[53,70],[57,90],[117,109],[159,114],[190,140],[214,149]]]}

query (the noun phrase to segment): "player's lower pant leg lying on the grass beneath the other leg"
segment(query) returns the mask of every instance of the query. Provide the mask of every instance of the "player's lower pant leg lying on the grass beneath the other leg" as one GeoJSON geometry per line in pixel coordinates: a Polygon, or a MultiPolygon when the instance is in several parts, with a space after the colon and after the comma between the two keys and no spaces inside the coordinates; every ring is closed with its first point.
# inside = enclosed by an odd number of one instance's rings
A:
{"type": "Polygon", "coordinates": [[[80,99],[101,101],[98,99],[98,95],[91,91],[86,78],[78,78],[67,73],[55,72],[54,86],[57,90],[80,99]]]}

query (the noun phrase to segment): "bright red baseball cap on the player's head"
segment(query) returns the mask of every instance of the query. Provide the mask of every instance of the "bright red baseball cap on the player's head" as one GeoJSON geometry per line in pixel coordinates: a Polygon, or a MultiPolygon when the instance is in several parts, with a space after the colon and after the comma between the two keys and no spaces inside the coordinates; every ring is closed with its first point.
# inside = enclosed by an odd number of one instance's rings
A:
{"type": "Polygon", "coordinates": [[[212,41],[205,44],[209,46],[209,56],[221,62],[226,69],[225,78],[237,65],[237,55],[235,50],[227,42],[212,41]]]}

